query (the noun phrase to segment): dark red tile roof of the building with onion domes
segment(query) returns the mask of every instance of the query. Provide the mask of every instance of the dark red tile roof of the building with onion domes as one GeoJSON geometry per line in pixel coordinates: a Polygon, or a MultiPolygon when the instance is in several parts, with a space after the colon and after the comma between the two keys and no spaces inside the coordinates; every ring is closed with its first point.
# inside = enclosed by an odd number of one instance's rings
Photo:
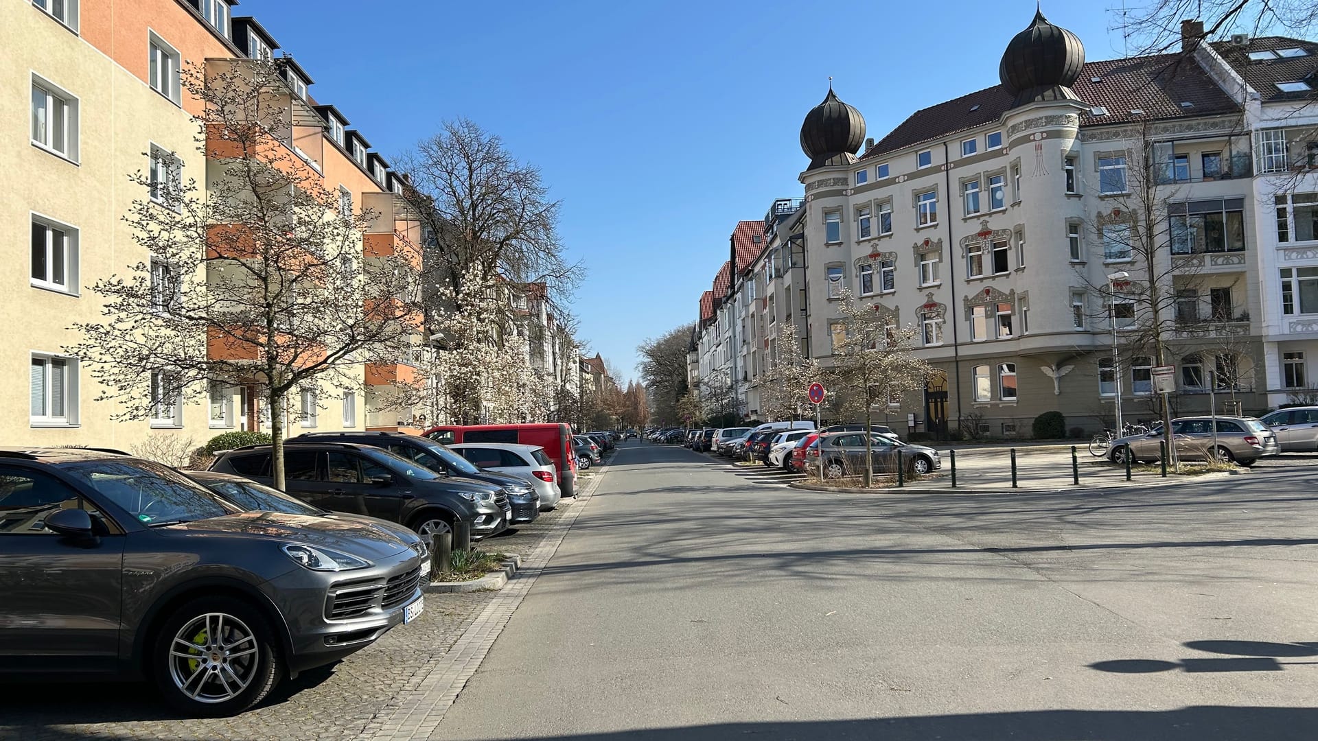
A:
{"type": "MultiPolygon", "coordinates": [[[[1180,54],[1086,62],[1072,90],[1086,105],[1107,108],[1106,116],[1082,113],[1082,127],[1207,116],[1239,109],[1198,62],[1180,54]],[[1181,63],[1176,63],[1178,61],[1181,63]],[[1132,109],[1143,113],[1131,113],[1132,109]]],[[[996,84],[916,111],[861,158],[878,157],[991,124],[1011,108],[1011,94],[996,84]]]]}

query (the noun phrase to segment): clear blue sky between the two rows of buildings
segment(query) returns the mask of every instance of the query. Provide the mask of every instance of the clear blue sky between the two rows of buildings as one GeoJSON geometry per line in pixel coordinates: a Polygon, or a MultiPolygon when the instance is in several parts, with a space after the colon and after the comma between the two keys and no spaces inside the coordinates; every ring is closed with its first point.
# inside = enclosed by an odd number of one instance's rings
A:
{"type": "MultiPolygon", "coordinates": [[[[882,138],[998,83],[1033,0],[828,4],[244,0],[386,158],[465,116],[539,166],[587,265],[575,311],[623,378],[696,318],[741,219],[800,195],[799,132],[828,78],[882,138]],[[369,8],[369,9],[366,9],[369,8]]],[[[1086,58],[1122,55],[1111,3],[1044,3],[1086,58]]]]}

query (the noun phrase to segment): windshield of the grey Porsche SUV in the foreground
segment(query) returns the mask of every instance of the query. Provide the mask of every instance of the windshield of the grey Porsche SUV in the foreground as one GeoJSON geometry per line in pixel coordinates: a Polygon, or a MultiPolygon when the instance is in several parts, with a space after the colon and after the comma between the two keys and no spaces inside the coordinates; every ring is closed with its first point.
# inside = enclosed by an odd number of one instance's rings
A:
{"type": "Polygon", "coordinates": [[[149,526],[241,512],[187,476],[149,460],[107,458],[61,468],[149,526]]]}

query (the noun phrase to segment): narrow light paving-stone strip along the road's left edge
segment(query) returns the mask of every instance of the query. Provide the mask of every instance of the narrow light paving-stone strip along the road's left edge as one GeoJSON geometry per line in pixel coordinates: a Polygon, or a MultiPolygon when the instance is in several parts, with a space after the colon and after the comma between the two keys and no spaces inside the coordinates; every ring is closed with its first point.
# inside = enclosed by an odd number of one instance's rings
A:
{"type": "Polygon", "coordinates": [[[457,700],[463,687],[480,668],[485,655],[494,645],[494,639],[498,638],[513,613],[522,604],[526,593],[530,592],[535,579],[558,551],[577,517],[585,510],[585,505],[589,504],[594,490],[600,488],[600,481],[604,480],[602,475],[609,472],[609,464],[604,463],[592,471],[597,475],[592,477],[592,483],[585,490],[577,494],[572,510],[559,521],[555,530],[546,533],[540,545],[509,578],[505,588],[490,599],[481,614],[463,632],[457,642],[444,655],[444,661],[436,662],[436,666],[406,694],[399,694],[397,707],[387,717],[377,719],[370,738],[374,741],[411,741],[414,738],[442,737],[438,733],[439,723],[444,720],[444,715],[457,700]]]}

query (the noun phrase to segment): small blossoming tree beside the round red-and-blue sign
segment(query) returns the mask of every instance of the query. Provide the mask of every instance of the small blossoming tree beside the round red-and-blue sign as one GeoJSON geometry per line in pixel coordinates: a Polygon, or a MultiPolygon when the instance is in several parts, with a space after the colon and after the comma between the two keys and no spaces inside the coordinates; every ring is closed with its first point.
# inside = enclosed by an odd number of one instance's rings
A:
{"type": "Polygon", "coordinates": [[[842,291],[842,324],[846,336],[833,349],[829,384],[851,389],[865,415],[865,487],[874,481],[874,405],[887,405],[898,394],[923,389],[933,367],[912,352],[915,327],[899,327],[883,305],[861,305],[842,291]]]}

